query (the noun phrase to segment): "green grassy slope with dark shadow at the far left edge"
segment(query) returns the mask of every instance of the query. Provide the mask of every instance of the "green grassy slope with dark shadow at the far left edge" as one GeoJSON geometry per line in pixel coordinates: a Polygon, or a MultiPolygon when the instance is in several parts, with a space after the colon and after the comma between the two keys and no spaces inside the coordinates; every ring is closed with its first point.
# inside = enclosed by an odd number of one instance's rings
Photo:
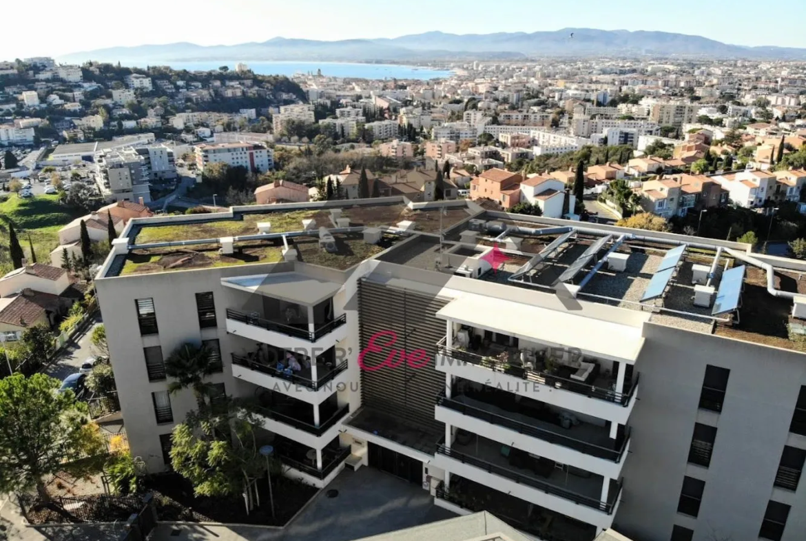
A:
{"type": "Polygon", "coordinates": [[[81,212],[62,205],[58,195],[37,195],[23,199],[9,194],[0,201],[0,273],[11,270],[6,220],[14,224],[26,256],[30,257],[28,235],[31,235],[36,260],[49,263],[51,250],[59,245],[59,230],[78,216],[81,216],[81,212]]]}

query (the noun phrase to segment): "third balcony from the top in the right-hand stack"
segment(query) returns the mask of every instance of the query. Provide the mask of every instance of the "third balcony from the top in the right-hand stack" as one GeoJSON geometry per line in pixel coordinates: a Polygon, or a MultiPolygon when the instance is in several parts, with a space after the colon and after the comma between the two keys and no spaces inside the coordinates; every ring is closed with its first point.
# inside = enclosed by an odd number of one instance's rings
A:
{"type": "Polygon", "coordinates": [[[440,446],[434,465],[600,528],[612,525],[621,497],[621,481],[610,481],[609,497],[601,501],[601,476],[484,438],[440,446]]]}

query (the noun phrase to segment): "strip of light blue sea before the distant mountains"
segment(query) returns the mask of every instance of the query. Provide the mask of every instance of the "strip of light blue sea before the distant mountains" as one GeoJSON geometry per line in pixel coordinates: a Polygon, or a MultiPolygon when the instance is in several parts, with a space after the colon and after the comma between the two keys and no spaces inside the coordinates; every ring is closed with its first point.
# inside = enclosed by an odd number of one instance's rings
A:
{"type": "MultiPolygon", "coordinates": [[[[168,62],[172,69],[209,71],[226,65],[235,69],[235,61],[168,62]]],[[[357,77],[361,79],[437,79],[451,77],[451,71],[394,64],[361,64],[350,62],[244,62],[258,75],[286,75],[317,73],[328,77],[357,77]]],[[[145,67],[145,66],[140,66],[145,67]]]]}

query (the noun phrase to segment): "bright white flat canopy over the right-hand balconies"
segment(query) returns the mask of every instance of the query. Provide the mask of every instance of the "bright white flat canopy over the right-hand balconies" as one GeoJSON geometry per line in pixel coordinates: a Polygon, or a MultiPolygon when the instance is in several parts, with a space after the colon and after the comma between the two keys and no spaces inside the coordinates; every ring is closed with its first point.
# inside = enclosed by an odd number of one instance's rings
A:
{"type": "Polygon", "coordinates": [[[634,363],[644,345],[641,327],[562,310],[464,293],[437,317],[552,347],[576,347],[583,355],[634,363]]]}

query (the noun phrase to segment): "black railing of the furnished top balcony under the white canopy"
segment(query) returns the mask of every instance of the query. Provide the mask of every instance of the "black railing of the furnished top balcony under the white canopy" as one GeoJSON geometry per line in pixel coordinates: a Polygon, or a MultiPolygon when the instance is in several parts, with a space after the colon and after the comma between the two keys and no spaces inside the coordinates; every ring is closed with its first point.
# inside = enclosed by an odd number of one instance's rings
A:
{"type": "Polygon", "coordinates": [[[476,366],[488,368],[494,372],[505,372],[510,376],[518,377],[522,380],[534,381],[535,383],[548,385],[549,387],[555,387],[557,389],[565,389],[572,393],[584,394],[591,398],[597,398],[607,402],[617,402],[621,404],[621,406],[627,406],[629,404],[630,399],[635,393],[635,389],[638,387],[638,376],[635,377],[635,381],[630,387],[629,393],[617,393],[613,389],[596,387],[596,385],[584,383],[583,381],[569,380],[564,377],[556,376],[555,374],[534,370],[533,368],[505,363],[493,357],[485,357],[477,355],[476,353],[455,349],[454,347],[447,347],[442,341],[437,343],[437,351],[440,355],[451,357],[451,359],[463,363],[475,364],[476,366]]]}

